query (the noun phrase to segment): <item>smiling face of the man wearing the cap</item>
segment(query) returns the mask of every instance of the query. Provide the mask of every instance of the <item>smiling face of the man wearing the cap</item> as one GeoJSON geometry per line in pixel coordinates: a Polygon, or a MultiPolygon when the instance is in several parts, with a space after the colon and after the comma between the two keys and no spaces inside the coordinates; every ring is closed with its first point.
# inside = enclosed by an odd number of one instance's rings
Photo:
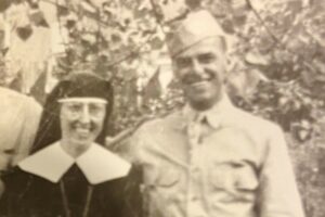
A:
{"type": "Polygon", "coordinates": [[[173,59],[173,71],[185,97],[196,110],[208,110],[220,100],[226,56],[219,38],[203,40],[173,59]]]}

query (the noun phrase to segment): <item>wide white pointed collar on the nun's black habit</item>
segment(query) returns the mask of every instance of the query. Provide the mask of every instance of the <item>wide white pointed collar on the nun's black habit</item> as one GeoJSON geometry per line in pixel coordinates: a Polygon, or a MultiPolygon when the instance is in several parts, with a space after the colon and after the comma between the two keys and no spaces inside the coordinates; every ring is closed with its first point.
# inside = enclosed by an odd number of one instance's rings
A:
{"type": "Polygon", "coordinates": [[[18,167],[51,182],[58,180],[77,164],[91,184],[98,184],[128,175],[131,164],[94,143],[76,159],[55,142],[23,159],[18,167]]]}

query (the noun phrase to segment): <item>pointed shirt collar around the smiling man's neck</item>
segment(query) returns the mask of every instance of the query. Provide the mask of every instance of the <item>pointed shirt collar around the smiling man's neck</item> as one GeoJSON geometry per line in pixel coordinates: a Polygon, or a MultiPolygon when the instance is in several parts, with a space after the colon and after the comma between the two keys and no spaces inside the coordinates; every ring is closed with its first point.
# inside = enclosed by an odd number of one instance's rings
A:
{"type": "Polygon", "coordinates": [[[204,112],[195,111],[186,104],[181,112],[184,122],[180,126],[185,128],[191,122],[197,118],[197,115],[200,115],[204,116],[203,118],[206,118],[208,125],[218,129],[221,125],[225,124],[226,118],[231,117],[233,108],[234,106],[226,94],[223,94],[221,100],[210,110],[204,112]]]}

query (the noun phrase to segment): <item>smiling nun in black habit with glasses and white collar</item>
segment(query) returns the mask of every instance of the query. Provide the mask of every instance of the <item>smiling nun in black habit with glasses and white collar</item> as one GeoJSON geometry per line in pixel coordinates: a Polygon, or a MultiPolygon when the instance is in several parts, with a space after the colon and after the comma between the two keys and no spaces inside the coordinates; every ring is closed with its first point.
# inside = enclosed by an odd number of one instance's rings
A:
{"type": "Polygon", "coordinates": [[[113,89],[75,73],[49,94],[31,155],[2,175],[0,216],[141,217],[139,171],[103,148],[113,89]]]}

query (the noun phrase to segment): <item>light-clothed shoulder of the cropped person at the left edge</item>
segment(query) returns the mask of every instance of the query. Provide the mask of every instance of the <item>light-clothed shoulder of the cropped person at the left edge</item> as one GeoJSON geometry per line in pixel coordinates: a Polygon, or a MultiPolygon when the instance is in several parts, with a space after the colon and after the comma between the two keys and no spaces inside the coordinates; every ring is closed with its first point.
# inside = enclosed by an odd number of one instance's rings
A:
{"type": "Polygon", "coordinates": [[[28,155],[41,115],[29,97],[0,88],[0,170],[28,155]]]}

